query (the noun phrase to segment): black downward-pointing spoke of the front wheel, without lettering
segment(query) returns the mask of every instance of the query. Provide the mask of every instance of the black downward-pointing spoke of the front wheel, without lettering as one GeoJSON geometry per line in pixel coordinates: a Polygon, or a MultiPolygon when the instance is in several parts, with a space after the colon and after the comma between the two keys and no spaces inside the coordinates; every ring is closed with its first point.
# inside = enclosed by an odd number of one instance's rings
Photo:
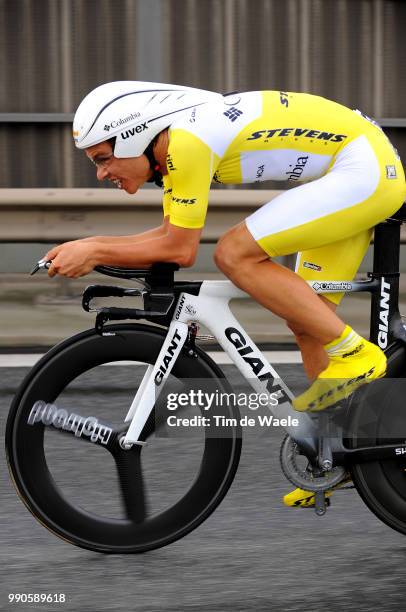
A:
{"type": "Polygon", "coordinates": [[[147,516],[145,482],[141,466],[141,447],[120,452],[114,460],[127,518],[142,523],[147,516]]]}

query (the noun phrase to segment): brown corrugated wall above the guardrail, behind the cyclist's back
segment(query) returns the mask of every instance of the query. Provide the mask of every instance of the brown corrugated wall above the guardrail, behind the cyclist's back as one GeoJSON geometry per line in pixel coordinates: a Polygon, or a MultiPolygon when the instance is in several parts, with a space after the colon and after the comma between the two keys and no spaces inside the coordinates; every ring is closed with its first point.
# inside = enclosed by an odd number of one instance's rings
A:
{"type": "Polygon", "coordinates": [[[96,187],[72,113],[126,79],[319,94],[404,157],[405,25],[401,0],[0,0],[0,187],[96,187]]]}

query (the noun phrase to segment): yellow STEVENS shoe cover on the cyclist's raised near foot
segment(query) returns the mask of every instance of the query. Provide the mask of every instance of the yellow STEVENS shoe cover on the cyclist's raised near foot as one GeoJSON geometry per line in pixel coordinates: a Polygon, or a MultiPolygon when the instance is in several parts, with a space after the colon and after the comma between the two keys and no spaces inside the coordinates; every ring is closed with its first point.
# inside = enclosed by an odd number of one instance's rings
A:
{"type": "Polygon", "coordinates": [[[349,353],[331,356],[330,363],[314,383],[292,404],[295,410],[318,412],[347,398],[358,387],[386,372],[386,355],[364,338],[349,353]]]}

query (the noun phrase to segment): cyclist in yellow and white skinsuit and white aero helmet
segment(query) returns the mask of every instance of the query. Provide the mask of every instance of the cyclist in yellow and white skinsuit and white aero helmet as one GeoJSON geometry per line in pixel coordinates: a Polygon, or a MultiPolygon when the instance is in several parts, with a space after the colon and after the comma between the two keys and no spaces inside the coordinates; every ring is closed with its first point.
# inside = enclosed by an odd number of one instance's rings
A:
{"type": "MultiPolygon", "coordinates": [[[[193,264],[210,184],[288,180],[220,240],[215,261],[234,284],[284,318],[302,353],[309,389],[297,410],[321,410],[382,376],[386,357],[335,313],[343,294],[318,296],[307,280],[349,280],[373,227],[406,196],[401,161],[379,126],[359,111],[304,93],[226,96],[177,85],[119,81],[90,92],[74,119],[76,146],[97,178],[127,193],[164,187],[160,227],[97,236],[51,249],[50,276],[77,277],[97,264],[193,264]],[[303,184],[301,184],[303,183],[303,184]],[[298,252],[296,272],[273,258],[298,252]]],[[[297,489],[288,505],[313,503],[297,489]]]]}

